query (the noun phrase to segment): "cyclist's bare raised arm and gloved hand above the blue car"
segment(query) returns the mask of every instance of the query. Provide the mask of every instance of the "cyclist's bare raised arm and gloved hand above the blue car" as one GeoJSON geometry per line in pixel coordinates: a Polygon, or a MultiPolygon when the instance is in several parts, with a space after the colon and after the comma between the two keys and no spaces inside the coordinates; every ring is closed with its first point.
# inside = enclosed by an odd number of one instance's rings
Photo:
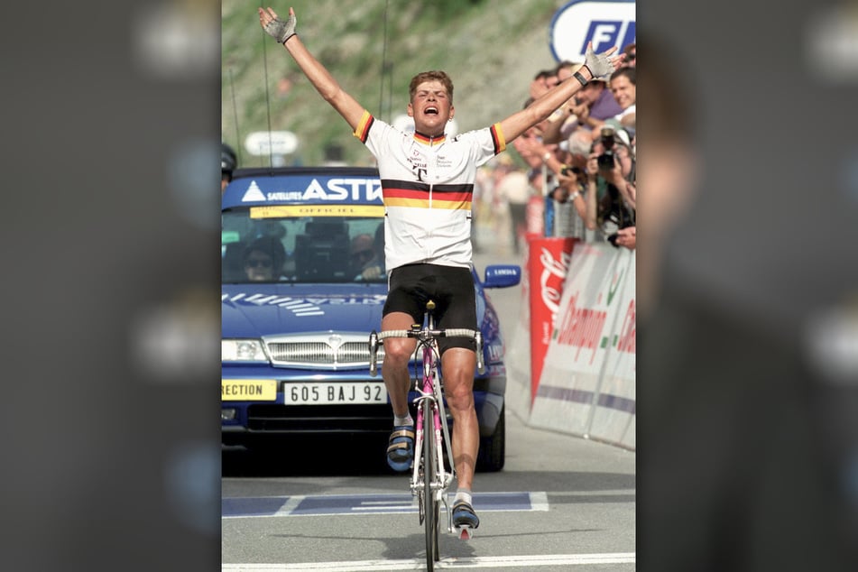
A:
{"type": "Polygon", "coordinates": [[[298,22],[295,11],[290,8],[289,18],[281,20],[270,7],[267,9],[259,8],[258,10],[259,23],[263,30],[272,36],[275,42],[283,44],[283,47],[290,53],[319,95],[324,97],[325,101],[334,107],[339,115],[343,116],[352,129],[356,129],[358,122],[364,115],[364,106],[360,105],[354,97],[351,97],[340,87],[328,69],[325,69],[300,41],[295,32],[295,26],[298,22]]]}

